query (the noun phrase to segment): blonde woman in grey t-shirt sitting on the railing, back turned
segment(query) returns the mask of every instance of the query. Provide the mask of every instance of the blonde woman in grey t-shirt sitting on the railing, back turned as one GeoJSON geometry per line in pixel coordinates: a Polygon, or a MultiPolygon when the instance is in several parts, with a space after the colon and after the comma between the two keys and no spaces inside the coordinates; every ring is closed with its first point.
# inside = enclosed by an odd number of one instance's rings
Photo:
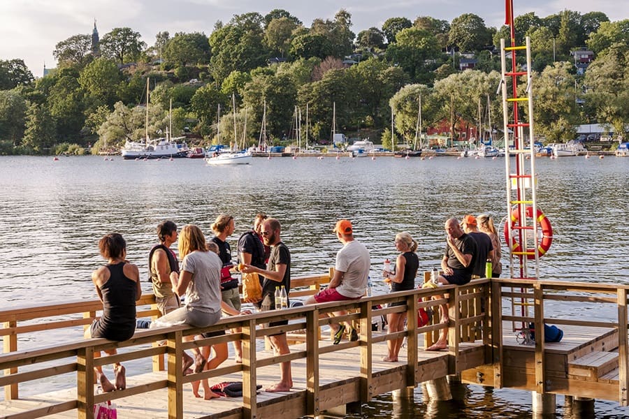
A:
{"type": "MultiPolygon", "coordinates": [[[[221,318],[221,311],[231,315],[240,314],[239,311],[224,304],[221,300],[221,267],[222,263],[218,255],[207,250],[205,237],[197,226],[184,226],[179,234],[179,254],[182,258],[181,274],[171,272],[171,284],[177,295],[185,294],[185,305],[171,311],[154,321],[157,326],[173,326],[188,324],[197,328],[206,328],[215,324],[221,318]]],[[[193,336],[184,338],[186,341],[194,339],[193,336]]],[[[208,362],[203,357],[199,348],[192,348],[194,360],[185,358],[184,372],[194,364],[194,372],[218,367],[227,359],[227,344],[215,344],[212,346],[215,356],[208,362]],[[208,364],[207,366],[205,364],[208,364]]],[[[206,380],[204,380],[206,381],[206,380]]],[[[217,397],[206,388],[205,399],[217,397]]]]}

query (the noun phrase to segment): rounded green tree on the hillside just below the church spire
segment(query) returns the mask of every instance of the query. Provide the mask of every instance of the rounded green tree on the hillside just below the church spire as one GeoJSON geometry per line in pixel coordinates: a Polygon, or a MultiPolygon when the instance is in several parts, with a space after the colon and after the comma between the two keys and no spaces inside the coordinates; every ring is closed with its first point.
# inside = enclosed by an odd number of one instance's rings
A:
{"type": "Polygon", "coordinates": [[[79,83],[89,98],[89,108],[111,106],[117,98],[117,86],[122,76],[113,61],[97,58],[87,64],[79,76],[79,83]]]}

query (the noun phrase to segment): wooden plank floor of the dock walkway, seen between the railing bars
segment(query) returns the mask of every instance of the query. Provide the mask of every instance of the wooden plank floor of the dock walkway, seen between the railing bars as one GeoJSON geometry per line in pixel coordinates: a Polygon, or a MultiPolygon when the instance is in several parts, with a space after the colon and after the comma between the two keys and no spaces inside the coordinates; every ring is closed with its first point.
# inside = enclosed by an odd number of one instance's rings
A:
{"type": "MultiPolygon", "coordinates": [[[[374,333],[376,336],[377,333],[374,333]]],[[[330,343],[321,341],[321,347],[329,346],[330,343]]],[[[477,362],[482,362],[482,343],[463,344],[465,351],[470,354],[470,359],[475,358],[477,362]]],[[[303,351],[304,344],[291,346],[291,351],[303,351]]],[[[382,342],[373,345],[373,386],[374,394],[382,394],[391,390],[403,387],[405,382],[406,353],[405,348],[400,351],[399,362],[383,362],[386,355],[386,343],[382,342]]],[[[270,356],[270,353],[261,353],[270,356]]],[[[440,376],[445,376],[448,371],[448,353],[418,351],[419,372],[418,382],[427,381],[440,376]]],[[[231,362],[231,361],[227,361],[231,362]]],[[[258,397],[258,418],[281,418],[284,413],[290,411],[290,417],[296,415],[306,415],[305,412],[305,377],[306,359],[298,359],[291,362],[294,388],[291,392],[269,393],[259,392],[258,397]],[[300,413],[303,409],[303,413],[300,413]],[[266,412],[266,413],[265,413],[266,412]]],[[[322,354],[319,357],[319,385],[321,392],[321,406],[323,409],[331,409],[350,402],[357,402],[360,395],[360,348],[347,348],[343,351],[322,354]]],[[[258,384],[269,385],[277,380],[279,366],[270,365],[257,369],[258,384]]],[[[151,372],[137,376],[129,376],[128,387],[142,385],[150,381],[166,379],[166,372],[151,372]]],[[[243,381],[239,373],[231,374],[221,378],[210,379],[210,385],[222,381],[243,381]]],[[[96,388],[95,388],[96,389],[96,388]]],[[[192,394],[191,386],[185,385],[183,389],[184,416],[191,418],[241,418],[243,397],[222,397],[220,399],[204,400],[197,399],[192,394]]],[[[28,409],[36,409],[63,400],[75,400],[75,388],[57,390],[41,395],[23,397],[18,400],[10,400],[1,404],[5,410],[4,414],[19,413],[28,409]]],[[[117,404],[118,416],[124,419],[150,419],[165,418],[168,409],[168,395],[166,388],[143,393],[131,397],[124,397],[115,400],[117,404]]],[[[1,416],[0,416],[1,417],[1,416]]],[[[57,413],[49,418],[76,418],[76,410],[57,413]]],[[[288,416],[287,416],[288,417],[288,416]]]]}

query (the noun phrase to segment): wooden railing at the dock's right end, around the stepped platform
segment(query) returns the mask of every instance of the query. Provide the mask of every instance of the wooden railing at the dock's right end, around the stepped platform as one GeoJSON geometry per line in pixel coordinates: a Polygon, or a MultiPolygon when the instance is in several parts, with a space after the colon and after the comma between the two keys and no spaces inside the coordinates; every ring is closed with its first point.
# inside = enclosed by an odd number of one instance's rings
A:
{"type": "MultiPolygon", "coordinates": [[[[618,339],[605,351],[618,352],[619,386],[618,395],[605,395],[605,399],[616,400],[621,406],[629,406],[629,362],[628,362],[628,290],[629,286],[617,284],[591,284],[585,282],[535,281],[514,279],[491,280],[491,334],[503,335],[504,324],[524,325],[533,323],[535,330],[535,392],[563,393],[578,395],[579,389],[553,388],[547,377],[547,344],[544,342],[544,323],[551,325],[577,326],[578,328],[611,328],[618,332],[618,339]],[[529,307],[526,314],[505,314],[513,304],[516,308],[529,307]],[[547,316],[550,304],[570,304],[567,312],[547,316]],[[588,310],[588,311],[586,311],[588,310]],[[575,315],[575,311],[579,314],[575,315]],[[600,313],[616,313],[607,318],[600,313]],[[591,313],[587,319],[586,313],[591,313]],[[572,393],[570,392],[572,391],[572,393]]],[[[517,310],[516,310],[517,311],[517,310]]],[[[556,310],[554,310],[556,311],[556,310]]],[[[504,331],[512,333],[513,330],[504,331]]],[[[492,339],[493,345],[493,385],[503,387],[503,343],[502,339],[492,339]]],[[[585,383],[585,381],[584,381],[585,383]]],[[[592,397],[592,396],[586,396],[592,397]]]]}

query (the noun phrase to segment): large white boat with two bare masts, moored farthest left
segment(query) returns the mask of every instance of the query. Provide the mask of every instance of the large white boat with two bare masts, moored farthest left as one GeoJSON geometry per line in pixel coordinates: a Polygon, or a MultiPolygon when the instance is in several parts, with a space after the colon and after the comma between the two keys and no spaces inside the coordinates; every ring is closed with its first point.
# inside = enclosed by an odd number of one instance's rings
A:
{"type": "MultiPolygon", "coordinates": [[[[146,121],[145,121],[145,140],[124,142],[124,146],[120,149],[122,159],[161,159],[168,157],[185,157],[188,153],[188,147],[185,142],[179,145],[170,138],[170,132],[166,128],[166,138],[157,138],[151,140],[148,135],[148,116],[150,103],[150,84],[149,78],[146,79],[146,121]]],[[[171,128],[172,129],[172,128],[171,128]]]]}

